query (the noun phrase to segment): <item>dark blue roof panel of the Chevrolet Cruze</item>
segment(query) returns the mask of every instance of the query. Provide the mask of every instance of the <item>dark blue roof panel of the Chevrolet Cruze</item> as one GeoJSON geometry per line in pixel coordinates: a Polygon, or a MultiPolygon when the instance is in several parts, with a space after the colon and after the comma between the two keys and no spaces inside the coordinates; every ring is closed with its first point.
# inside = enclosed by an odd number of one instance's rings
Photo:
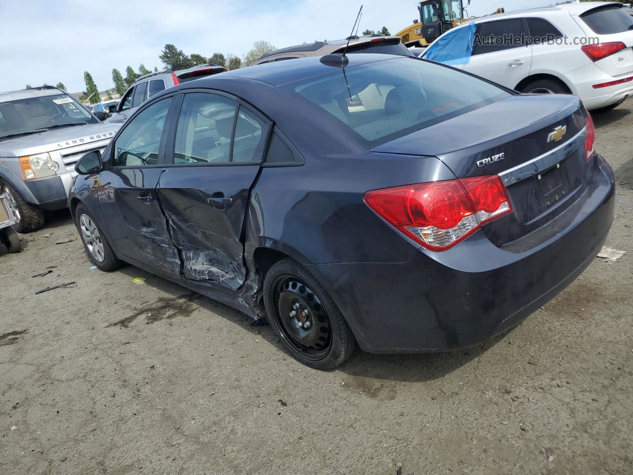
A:
{"type": "MultiPolygon", "coordinates": [[[[178,87],[213,87],[213,81],[231,78],[256,80],[277,86],[286,84],[287,82],[294,82],[296,80],[306,79],[308,77],[341,69],[340,66],[323,64],[320,61],[321,58],[321,56],[310,56],[309,58],[297,58],[292,61],[272,62],[256,66],[248,66],[247,68],[235,69],[222,74],[213,75],[211,77],[204,77],[196,79],[195,81],[185,82],[178,87]]],[[[346,58],[349,60],[348,66],[346,67],[349,68],[367,63],[374,63],[375,61],[393,60],[398,58],[415,59],[415,56],[366,53],[346,54],[346,58]]]]}

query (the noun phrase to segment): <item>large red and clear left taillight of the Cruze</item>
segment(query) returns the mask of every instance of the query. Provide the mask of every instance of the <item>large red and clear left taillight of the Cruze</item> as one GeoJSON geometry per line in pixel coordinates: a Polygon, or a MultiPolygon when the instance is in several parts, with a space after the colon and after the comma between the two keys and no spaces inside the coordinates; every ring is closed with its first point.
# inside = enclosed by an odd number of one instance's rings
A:
{"type": "Polygon", "coordinates": [[[368,191],[367,206],[432,251],[444,251],[512,212],[498,175],[368,191]]]}

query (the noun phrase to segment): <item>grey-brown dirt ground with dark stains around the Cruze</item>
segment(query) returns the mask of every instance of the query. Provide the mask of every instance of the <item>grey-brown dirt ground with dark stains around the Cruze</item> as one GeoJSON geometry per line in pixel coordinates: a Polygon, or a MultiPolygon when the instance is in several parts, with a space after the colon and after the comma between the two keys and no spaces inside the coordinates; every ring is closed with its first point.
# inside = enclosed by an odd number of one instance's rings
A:
{"type": "Polygon", "coordinates": [[[314,371],[229,307],[89,269],[54,213],[0,251],[0,474],[633,473],[632,109],[596,116],[627,254],[468,351],[314,371]]]}

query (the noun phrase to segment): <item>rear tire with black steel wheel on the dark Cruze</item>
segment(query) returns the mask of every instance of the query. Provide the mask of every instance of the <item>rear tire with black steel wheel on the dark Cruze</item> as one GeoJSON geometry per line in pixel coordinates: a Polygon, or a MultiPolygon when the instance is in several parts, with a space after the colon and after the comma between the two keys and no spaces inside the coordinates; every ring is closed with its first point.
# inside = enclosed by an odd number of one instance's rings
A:
{"type": "Polygon", "coordinates": [[[268,322],[299,362],[333,369],[356,348],[356,339],[325,288],[300,263],[285,258],[264,279],[268,322]]]}

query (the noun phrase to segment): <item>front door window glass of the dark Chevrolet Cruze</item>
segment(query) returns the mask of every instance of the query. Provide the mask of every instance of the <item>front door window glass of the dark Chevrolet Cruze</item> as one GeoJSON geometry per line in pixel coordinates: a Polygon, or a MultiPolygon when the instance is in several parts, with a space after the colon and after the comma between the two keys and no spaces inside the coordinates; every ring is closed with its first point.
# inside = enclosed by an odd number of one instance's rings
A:
{"type": "Polygon", "coordinates": [[[136,115],[114,144],[114,167],[147,167],[158,163],[158,147],[172,98],[161,99],[136,115]]]}

